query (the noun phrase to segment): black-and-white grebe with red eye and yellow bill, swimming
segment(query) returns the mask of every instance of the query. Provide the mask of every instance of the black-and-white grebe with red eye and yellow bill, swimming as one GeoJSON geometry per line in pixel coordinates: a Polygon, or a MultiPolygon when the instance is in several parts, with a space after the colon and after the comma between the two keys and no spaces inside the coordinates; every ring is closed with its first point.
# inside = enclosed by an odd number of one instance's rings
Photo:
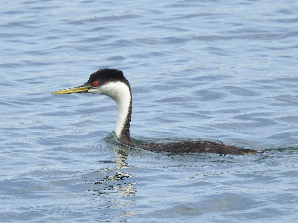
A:
{"type": "Polygon", "coordinates": [[[103,68],[90,75],[89,80],[79,86],[52,94],[72,94],[72,93],[92,93],[97,95],[106,95],[115,100],[118,109],[118,119],[115,133],[120,143],[141,148],[144,150],[170,153],[218,153],[234,155],[250,155],[254,153],[263,153],[264,151],[243,149],[235,146],[228,146],[218,142],[209,141],[185,141],[185,142],[149,142],[135,144],[130,137],[131,123],[131,87],[128,80],[124,77],[122,71],[103,68]]]}

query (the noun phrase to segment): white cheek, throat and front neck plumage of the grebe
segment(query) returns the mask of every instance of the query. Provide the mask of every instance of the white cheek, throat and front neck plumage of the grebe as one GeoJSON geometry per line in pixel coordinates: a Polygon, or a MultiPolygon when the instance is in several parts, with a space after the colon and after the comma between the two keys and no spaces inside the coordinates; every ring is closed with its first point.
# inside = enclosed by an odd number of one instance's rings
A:
{"type": "Polygon", "coordinates": [[[89,93],[98,95],[107,95],[114,99],[118,109],[118,119],[115,128],[115,133],[120,138],[121,131],[125,125],[129,113],[131,103],[131,93],[129,87],[121,81],[107,83],[100,88],[90,89],[89,93]]]}

